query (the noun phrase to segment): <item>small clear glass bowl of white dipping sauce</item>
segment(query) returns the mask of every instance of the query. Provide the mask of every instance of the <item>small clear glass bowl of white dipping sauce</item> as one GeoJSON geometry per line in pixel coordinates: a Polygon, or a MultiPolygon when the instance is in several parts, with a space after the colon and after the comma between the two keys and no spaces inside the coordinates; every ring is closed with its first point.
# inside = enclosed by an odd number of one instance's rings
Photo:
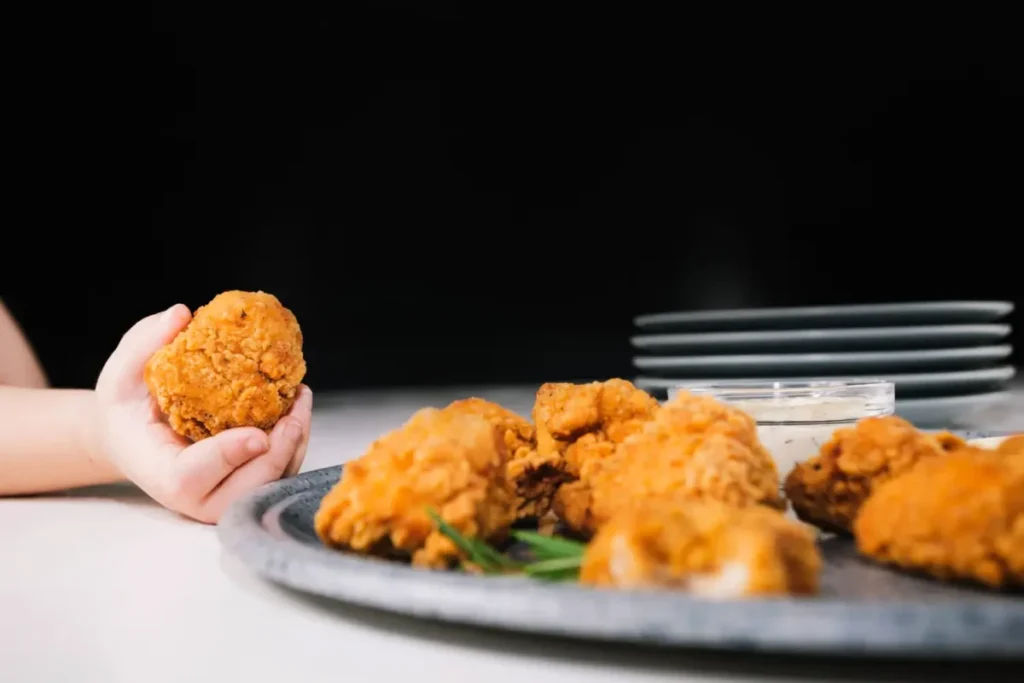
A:
{"type": "Polygon", "coordinates": [[[879,379],[680,384],[669,389],[669,399],[680,391],[713,396],[754,418],[761,442],[775,459],[780,483],[837,429],[896,409],[895,385],[879,379]]]}

